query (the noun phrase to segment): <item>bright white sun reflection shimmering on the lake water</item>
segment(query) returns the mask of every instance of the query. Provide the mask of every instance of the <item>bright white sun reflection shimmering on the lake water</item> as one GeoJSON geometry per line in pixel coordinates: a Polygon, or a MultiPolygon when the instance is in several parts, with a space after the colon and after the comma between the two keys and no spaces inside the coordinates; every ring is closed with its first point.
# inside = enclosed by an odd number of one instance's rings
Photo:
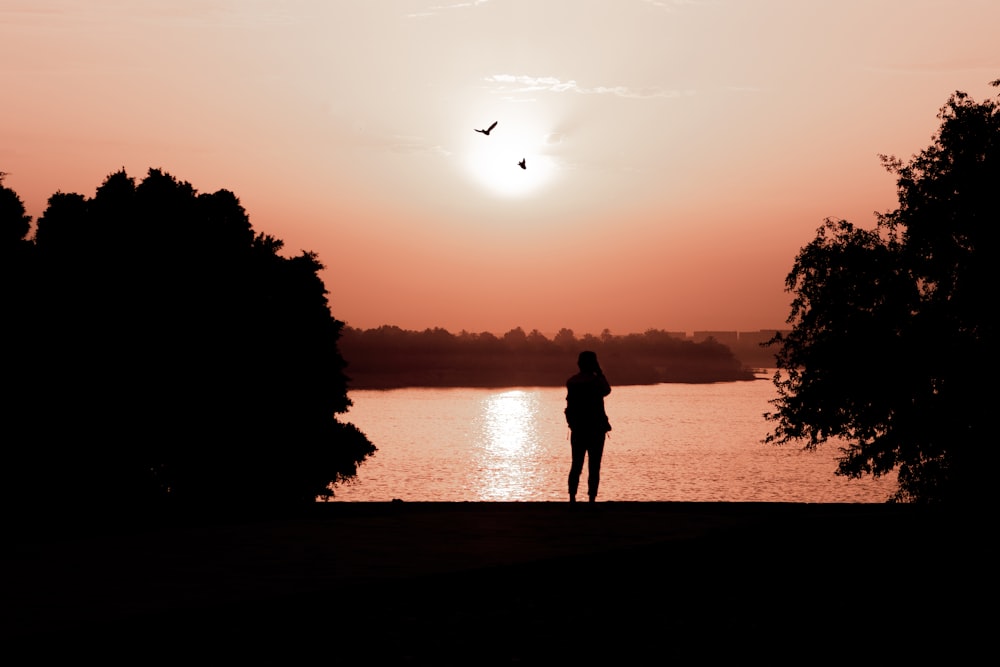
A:
{"type": "Polygon", "coordinates": [[[505,391],[482,400],[475,492],[481,500],[524,500],[539,469],[538,394],[505,391]]]}

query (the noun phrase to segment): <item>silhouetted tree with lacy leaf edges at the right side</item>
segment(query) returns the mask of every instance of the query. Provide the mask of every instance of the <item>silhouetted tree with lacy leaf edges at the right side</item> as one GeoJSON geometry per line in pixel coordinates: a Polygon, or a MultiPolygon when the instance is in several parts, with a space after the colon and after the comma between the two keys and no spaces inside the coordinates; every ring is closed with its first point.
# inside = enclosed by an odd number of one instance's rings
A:
{"type": "Polygon", "coordinates": [[[799,252],[767,440],[843,439],[838,473],[897,470],[898,501],[992,501],[1000,104],[956,92],[938,117],[929,148],[882,158],[896,210],[799,252]]]}

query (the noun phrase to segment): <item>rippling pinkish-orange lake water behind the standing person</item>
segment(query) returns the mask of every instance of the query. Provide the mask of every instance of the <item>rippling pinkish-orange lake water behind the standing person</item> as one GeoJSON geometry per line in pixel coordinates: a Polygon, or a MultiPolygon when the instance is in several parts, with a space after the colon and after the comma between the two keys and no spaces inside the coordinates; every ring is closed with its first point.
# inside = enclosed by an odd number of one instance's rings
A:
{"type": "MultiPolygon", "coordinates": [[[[765,445],[770,375],[614,387],[599,501],[884,502],[895,477],[834,474],[837,447],[765,445]]],[[[614,378],[609,378],[614,383],[614,378]]],[[[562,501],[562,387],[354,390],[343,416],[378,452],[335,501],[562,501]]],[[[581,488],[586,488],[586,467],[581,488]]]]}

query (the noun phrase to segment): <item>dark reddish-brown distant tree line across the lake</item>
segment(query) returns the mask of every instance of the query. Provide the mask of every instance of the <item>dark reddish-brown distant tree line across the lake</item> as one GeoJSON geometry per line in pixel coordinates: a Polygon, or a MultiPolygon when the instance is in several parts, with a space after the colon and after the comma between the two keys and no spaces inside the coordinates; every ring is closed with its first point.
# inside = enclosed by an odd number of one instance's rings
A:
{"type": "Polygon", "coordinates": [[[712,339],[695,343],[656,329],[579,338],[562,329],[550,339],[520,327],[502,336],[345,327],[340,349],[357,389],[561,386],[575,372],[582,350],[597,352],[608,378],[619,385],[754,379],[725,345],[712,339]]]}

